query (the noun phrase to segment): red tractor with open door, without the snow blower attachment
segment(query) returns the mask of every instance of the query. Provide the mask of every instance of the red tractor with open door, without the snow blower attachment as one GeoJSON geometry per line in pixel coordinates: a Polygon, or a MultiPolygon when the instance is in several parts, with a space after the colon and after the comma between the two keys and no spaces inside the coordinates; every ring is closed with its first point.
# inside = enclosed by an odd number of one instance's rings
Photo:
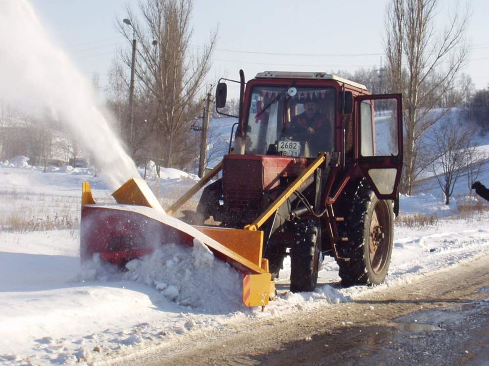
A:
{"type": "MultiPolygon", "coordinates": [[[[290,255],[293,292],[314,290],[325,255],[343,285],[383,282],[399,211],[401,95],[326,73],[240,76],[233,153],[190,221],[262,230],[272,276],[290,255]]],[[[219,82],[218,111],[226,94],[219,82]]]]}

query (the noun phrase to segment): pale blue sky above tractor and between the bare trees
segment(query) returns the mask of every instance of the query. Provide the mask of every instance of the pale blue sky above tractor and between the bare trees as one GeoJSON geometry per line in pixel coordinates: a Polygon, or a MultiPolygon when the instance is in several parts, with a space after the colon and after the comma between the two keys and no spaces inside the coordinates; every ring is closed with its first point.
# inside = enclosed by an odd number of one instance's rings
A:
{"type": "MultiPolygon", "coordinates": [[[[115,29],[125,0],[30,0],[56,42],[89,79],[107,82],[117,48],[130,47],[115,29]]],[[[264,70],[326,71],[378,67],[383,60],[382,34],[387,0],[195,0],[192,47],[198,49],[218,27],[214,66],[218,77],[246,78],[264,70]]],[[[456,0],[440,1],[438,26],[446,24],[456,0]]],[[[477,89],[489,85],[489,1],[469,0],[467,39],[472,51],[464,73],[477,89]]],[[[232,91],[231,91],[232,93],[232,91]]]]}

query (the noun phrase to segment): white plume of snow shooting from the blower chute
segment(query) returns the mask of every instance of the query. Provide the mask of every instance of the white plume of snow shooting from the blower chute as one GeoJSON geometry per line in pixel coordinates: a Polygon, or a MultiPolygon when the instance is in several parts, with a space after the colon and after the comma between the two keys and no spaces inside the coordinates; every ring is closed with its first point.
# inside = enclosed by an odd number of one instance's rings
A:
{"type": "Polygon", "coordinates": [[[1,1],[0,24],[0,101],[16,109],[49,110],[95,156],[111,189],[138,176],[90,83],[51,41],[28,1],[1,1]]]}

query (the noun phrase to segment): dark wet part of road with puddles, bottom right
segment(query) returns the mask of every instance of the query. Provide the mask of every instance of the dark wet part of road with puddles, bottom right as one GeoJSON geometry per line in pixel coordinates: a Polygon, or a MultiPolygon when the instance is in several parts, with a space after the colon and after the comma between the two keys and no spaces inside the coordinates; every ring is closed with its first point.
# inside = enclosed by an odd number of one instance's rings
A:
{"type": "MultiPolygon", "coordinates": [[[[263,365],[489,365],[488,298],[352,327],[254,357],[263,365]]],[[[248,357],[251,361],[251,358],[248,357]]]]}

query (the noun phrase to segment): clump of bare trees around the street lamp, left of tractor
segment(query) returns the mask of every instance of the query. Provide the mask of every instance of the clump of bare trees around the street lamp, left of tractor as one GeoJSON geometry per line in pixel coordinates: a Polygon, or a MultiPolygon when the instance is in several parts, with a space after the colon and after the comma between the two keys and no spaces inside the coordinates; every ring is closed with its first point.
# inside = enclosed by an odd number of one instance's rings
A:
{"type": "Polygon", "coordinates": [[[139,161],[152,159],[162,166],[183,169],[193,161],[191,123],[202,115],[204,84],[211,67],[217,32],[210,34],[200,51],[190,48],[191,0],[147,0],[139,3],[142,20],[127,6],[127,19],[119,32],[137,40],[134,127],[128,118],[126,70],[131,52],[122,50],[110,73],[109,106],[120,124],[121,136],[130,154],[139,161]],[[134,31],[134,33],[133,33],[134,31]]]}

